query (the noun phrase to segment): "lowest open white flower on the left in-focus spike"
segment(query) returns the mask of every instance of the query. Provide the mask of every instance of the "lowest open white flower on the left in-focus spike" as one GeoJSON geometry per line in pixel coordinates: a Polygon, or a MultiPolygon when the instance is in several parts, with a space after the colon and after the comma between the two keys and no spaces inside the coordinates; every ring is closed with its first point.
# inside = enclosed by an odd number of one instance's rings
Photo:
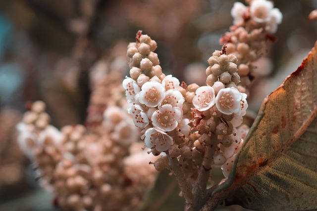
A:
{"type": "Polygon", "coordinates": [[[145,131],[144,143],[148,148],[164,152],[173,144],[173,139],[160,129],[152,127],[145,131]]]}

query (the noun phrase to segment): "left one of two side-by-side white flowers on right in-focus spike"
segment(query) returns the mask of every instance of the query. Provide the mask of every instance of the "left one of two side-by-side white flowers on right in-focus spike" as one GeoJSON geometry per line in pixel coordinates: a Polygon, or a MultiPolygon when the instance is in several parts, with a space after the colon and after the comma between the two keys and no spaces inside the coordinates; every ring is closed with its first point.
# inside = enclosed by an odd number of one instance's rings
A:
{"type": "Polygon", "coordinates": [[[198,111],[206,111],[214,105],[214,90],[210,85],[199,87],[195,93],[193,105],[198,111]]]}

